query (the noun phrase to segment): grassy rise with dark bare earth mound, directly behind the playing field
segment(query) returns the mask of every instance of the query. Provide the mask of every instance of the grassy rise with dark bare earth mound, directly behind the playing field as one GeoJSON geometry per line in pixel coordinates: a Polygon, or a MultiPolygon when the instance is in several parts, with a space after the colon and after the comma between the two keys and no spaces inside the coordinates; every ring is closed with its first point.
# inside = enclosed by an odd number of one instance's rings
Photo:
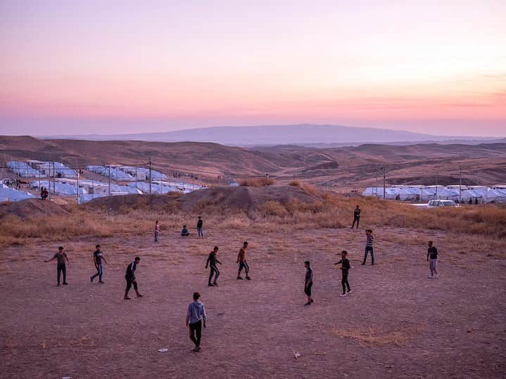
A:
{"type": "Polygon", "coordinates": [[[208,188],[187,195],[113,196],[82,207],[67,206],[64,212],[57,212],[49,202],[29,200],[37,201],[45,209],[37,207],[31,218],[23,212],[34,207],[23,206],[24,202],[1,209],[0,245],[23,245],[37,238],[145,234],[156,219],[163,220],[165,229],[177,232],[182,224],[194,224],[198,215],[218,229],[341,229],[349,227],[355,205],[362,207],[363,227],[464,233],[464,239],[472,245],[486,243],[491,247],[504,244],[506,239],[506,207],[422,210],[373,198],[321,192],[298,182],[291,186],[208,188]]]}

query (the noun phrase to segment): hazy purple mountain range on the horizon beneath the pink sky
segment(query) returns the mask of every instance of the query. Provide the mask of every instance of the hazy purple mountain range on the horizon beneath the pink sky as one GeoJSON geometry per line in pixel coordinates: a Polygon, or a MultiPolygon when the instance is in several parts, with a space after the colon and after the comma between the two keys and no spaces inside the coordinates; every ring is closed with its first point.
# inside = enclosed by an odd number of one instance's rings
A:
{"type": "Polygon", "coordinates": [[[43,136],[42,139],[84,139],[89,141],[214,142],[228,146],[356,146],[362,143],[483,143],[506,139],[434,136],[412,131],[344,127],[339,125],[263,125],[256,127],[207,127],[158,133],[89,134],[80,136],[43,136]]]}

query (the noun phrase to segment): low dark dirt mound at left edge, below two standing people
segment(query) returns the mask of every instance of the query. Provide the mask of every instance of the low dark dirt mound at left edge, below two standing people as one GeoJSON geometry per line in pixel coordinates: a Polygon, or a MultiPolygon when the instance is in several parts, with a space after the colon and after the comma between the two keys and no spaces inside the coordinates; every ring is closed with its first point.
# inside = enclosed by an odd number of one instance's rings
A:
{"type": "Polygon", "coordinates": [[[27,199],[12,203],[1,203],[0,217],[5,217],[8,214],[13,214],[20,219],[32,219],[47,216],[63,216],[64,214],[68,214],[68,210],[52,201],[27,199]]]}

